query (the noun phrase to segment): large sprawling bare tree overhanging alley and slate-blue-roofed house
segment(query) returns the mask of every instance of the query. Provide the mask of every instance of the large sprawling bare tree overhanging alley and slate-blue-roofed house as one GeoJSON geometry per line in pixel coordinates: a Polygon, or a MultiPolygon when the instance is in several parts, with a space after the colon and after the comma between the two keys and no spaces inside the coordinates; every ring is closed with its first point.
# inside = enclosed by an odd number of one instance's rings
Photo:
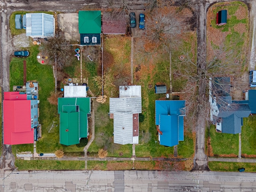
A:
{"type": "MultiPolygon", "coordinates": [[[[192,57],[193,54],[186,51],[183,52],[182,60],[176,61],[178,65],[174,71],[174,76],[186,82],[184,92],[187,94],[184,95],[184,99],[186,100],[188,121],[194,122],[194,117],[199,111],[205,114],[207,120],[210,120],[210,117],[207,115],[210,111],[210,102],[204,95],[212,96],[222,106],[223,110],[233,110],[236,107],[236,105],[228,105],[228,101],[223,98],[228,95],[231,98],[234,96],[231,89],[232,85],[236,86],[236,90],[241,92],[244,89],[245,82],[241,81],[240,72],[246,60],[241,57],[239,50],[234,52],[231,49],[232,46],[230,44],[230,46],[220,45],[219,47],[212,47],[213,56],[205,64],[201,58],[197,58],[196,63],[196,58],[192,57]],[[225,77],[230,78],[230,82],[224,80],[225,77]],[[209,88],[209,83],[211,88],[209,88]],[[200,87],[203,89],[200,91],[200,94],[198,90],[199,84],[201,84],[200,87]]],[[[198,47],[198,50],[200,51],[200,47],[198,47]]],[[[204,53],[202,53],[203,55],[204,53]]]]}

